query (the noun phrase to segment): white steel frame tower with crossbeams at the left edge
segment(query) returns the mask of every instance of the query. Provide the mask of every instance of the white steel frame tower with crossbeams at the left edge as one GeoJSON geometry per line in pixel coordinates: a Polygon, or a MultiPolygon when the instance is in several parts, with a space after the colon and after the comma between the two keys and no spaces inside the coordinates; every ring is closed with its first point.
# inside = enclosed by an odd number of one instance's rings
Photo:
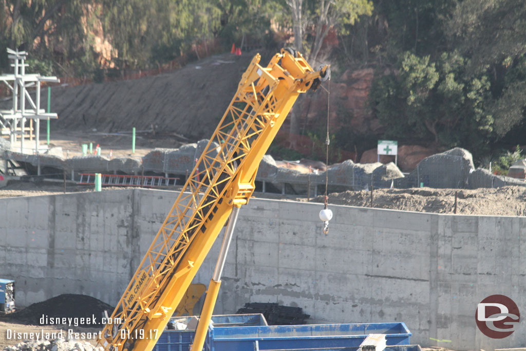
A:
{"type": "Polygon", "coordinates": [[[12,147],[15,146],[17,139],[20,141],[20,152],[25,154],[38,154],[41,149],[40,143],[40,120],[58,118],[56,113],[46,113],[45,109],[40,108],[40,92],[42,82],[58,83],[57,77],[43,77],[40,74],[26,74],[25,63],[27,53],[25,51],[14,51],[7,49],[7,56],[13,60],[14,74],[0,75],[0,81],[4,82],[13,92],[13,108],[0,110],[0,128],[2,135],[9,135],[12,147]],[[12,84],[10,84],[12,82],[12,84]],[[29,87],[36,85],[36,102],[29,94],[29,87]],[[26,102],[31,107],[26,108],[26,102]],[[24,140],[33,140],[33,121],[35,122],[35,147],[26,148],[24,140]],[[26,135],[26,124],[29,123],[29,135],[26,135]]]}

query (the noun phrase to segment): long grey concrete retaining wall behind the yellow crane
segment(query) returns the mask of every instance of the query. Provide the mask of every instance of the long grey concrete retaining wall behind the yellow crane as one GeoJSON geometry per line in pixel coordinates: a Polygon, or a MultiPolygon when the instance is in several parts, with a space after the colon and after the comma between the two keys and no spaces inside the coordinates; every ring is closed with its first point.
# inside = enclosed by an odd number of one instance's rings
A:
{"type": "MultiPolygon", "coordinates": [[[[124,189],[0,199],[0,272],[16,280],[17,305],[63,293],[115,304],[175,198],[124,189]]],[[[402,321],[422,345],[526,343],[524,323],[504,339],[475,323],[489,295],[526,307],[523,217],[331,206],[326,236],[321,207],[267,199],[242,207],[216,314],[278,302],[303,308],[310,323],[402,321]]],[[[195,283],[208,285],[219,246],[220,238],[195,283]]]]}

